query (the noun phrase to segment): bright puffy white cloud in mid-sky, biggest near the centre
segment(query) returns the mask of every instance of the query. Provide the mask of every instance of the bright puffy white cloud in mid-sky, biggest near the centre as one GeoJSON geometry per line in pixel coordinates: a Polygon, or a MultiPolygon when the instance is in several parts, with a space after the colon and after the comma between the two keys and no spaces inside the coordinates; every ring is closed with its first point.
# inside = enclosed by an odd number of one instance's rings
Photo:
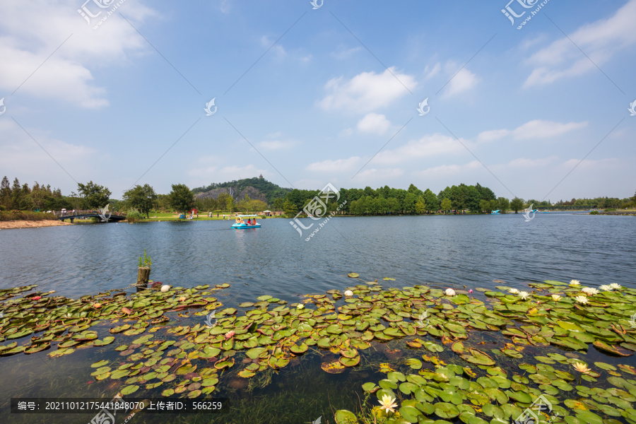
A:
{"type": "Polygon", "coordinates": [[[413,76],[399,73],[391,66],[382,73],[359,73],[351,80],[343,77],[331,78],[324,87],[329,94],[317,104],[324,110],[366,113],[387,106],[408,94],[405,86],[414,90],[417,85],[413,76]]]}

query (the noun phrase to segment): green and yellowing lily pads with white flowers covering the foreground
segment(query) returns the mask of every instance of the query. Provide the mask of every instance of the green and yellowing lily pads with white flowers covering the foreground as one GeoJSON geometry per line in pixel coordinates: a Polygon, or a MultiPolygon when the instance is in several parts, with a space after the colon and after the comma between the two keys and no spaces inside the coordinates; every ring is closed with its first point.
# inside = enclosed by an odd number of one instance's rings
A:
{"type": "Polygon", "coordinates": [[[211,297],[228,287],[108,292],[78,300],[23,295],[35,285],[0,290],[0,341],[8,341],[0,355],[50,349],[56,357],[108,345],[119,334],[139,336],[114,348],[119,361],[93,363],[93,377],[119,380],[122,395],[158,389],[163,396],[196,398],[211,394],[226,372],[258,378],[315,351],[331,357],[322,370],[338,374],[370,362],[381,343],[399,341],[406,357],[387,355],[390,363],[373,363],[386,378],[363,384],[362,408],[338,410],[336,423],[510,423],[540,396],[550,404],[541,420],[636,423],[636,368],[616,363],[636,351],[634,289],[545,281],[531,283],[531,292],[501,285],[500,291],[476,288],[481,293],[471,297],[457,288],[384,289],[377,281],[360,281],[344,298],[329,290],[287,305],[263,295],[237,305],[245,310],[239,314],[232,307],[221,310],[211,297]],[[213,312],[215,324],[170,322],[172,314],[187,310],[201,318],[213,312]],[[100,339],[90,327],[103,325],[112,336],[100,339]],[[12,341],[28,336],[20,346],[12,341]],[[489,343],[497,347],[488,349],[489,343]],[[587,363],[590,348],[613,356],[608,361],[616,366],[587,363]]]}

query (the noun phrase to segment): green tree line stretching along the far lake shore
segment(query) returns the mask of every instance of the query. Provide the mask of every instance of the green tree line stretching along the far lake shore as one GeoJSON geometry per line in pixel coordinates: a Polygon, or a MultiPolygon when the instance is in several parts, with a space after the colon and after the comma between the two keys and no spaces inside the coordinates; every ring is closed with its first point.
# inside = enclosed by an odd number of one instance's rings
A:
{"type": "MultiPolygon", "coordinates": [[[[111,204],[112,210],[122,212],[137,212],[149,217],[151,211],[176,211],[185,213],[193,208],[199,211],[264,211],[272,208],[276,211],[284,211],[287,216],[296,216],[307,204],[320,194],[319,190],[284,189],[278,191],[276,184],[267,182],[262,178],[254,178],[262,187],[269,187],[271,192],[280,195],[269,204],[257,199],[245,196],[241,201],[227,193],[219,194],[217,199],[211,197],[196,198],[195,190],[189,189],[186,184],[172,184],[172,190],[168,194],[157,194],[149,184],[137,184],[124,192],[122,199],[110,199],[111,192],[105,186],[93,181],[86,184],[78,183],[77,192],[71,192],[70,196],[61,194],[60,189],[52,189],[50,185],[35,182],[33,187],[28,184],[20,184],[18,178],[9,183],[5,176],[0,184],[0,211],[59,211],[61,208],[71,209],[97,209],[111,204]],[[283,194],[284,193],[284,194],[283,194]]],[[[247,179],[245,181],[251,181],[247,179]]],[[[244,182],[244,180],[241,180],[244,182]]],[[[228,183],[231,184],[231,183],[228,183]]],[[[223,184],[213,184],[212,188],[223,184]]],[[[206,189],[210,187],[204,187],[206,189]]],[[[201,189],[197,190],[201,191],[201,189]]],[[[490,213],[499,210],[522,211],[524,208],[534,205],[535,208],[550,206],[592,206],[596,208],[623,208],[636,204],[636,194],[628,199],[616,199],[598,197],[596,199],[572,199],[571,201],[559,201],[551,204],[550,201],[536,201],[519,199],[510,200],[505,197],[497,197],[493,190],[477,183],[475,185],[459,184],[446,187],[438,194],[430,189],[422,191],[414,184],[408,189],[395,189],[387,185],[372,189],[341,189],[339,198],[330,199],[327,204],[329,211],[350,215],[389,215],[389,214],[424,214],[424,213],[490,213]]]]}

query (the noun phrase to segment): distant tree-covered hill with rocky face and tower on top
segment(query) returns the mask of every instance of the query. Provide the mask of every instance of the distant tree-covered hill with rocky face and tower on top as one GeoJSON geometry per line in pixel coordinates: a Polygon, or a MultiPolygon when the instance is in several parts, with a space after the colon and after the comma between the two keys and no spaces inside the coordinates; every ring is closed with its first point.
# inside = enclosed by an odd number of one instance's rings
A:
{"type": "Polygon", "coordinates": [[[192,189],[192,192],[196,197],[212,197],[217,199],[221,193],[231,194],[235,201],[241,201],[245,199],[245,195],[249,196],[249,199],[258,199],[272,204],[274,199],[279,197],[283,198],[291,189],[285,189],[278,187],[273,182],[269,182],[263,177],[244,178],[238,181],[212,183],[208,187],[196,187],[192,189]]]}

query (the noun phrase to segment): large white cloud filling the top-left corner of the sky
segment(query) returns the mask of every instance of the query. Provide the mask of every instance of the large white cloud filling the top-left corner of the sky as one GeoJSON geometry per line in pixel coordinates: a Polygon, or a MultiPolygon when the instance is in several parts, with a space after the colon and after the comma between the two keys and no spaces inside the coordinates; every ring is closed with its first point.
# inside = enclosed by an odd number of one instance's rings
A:
{"type": "MultiPolygon", "coordinates": [[[[129,52],[147,49],[147,43],[117,12],[93,30],[76,12],[79,6],[81,3],[74,0],[3,3],[1,90],[13,92],[28,79],[20,86],[20,93],[55,98],[81,107],[108,105],[106,90],[94,85],[90,69],[126,61],[129,52]]],[[[126,2],[118,10],[134,23],[155,14],[139,1],[126,2]]],[[[94,13],[97,11],[95,6],[94,13]]]]}

